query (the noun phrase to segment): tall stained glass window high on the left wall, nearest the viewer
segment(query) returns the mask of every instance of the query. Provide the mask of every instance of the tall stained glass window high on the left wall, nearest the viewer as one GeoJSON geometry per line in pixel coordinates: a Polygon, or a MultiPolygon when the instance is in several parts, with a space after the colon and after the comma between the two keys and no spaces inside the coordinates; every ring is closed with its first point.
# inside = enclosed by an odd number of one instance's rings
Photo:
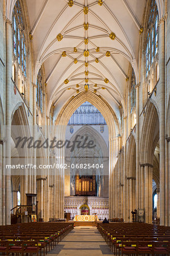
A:
{"type": "Polygon", "coordinates": [[[14,60],[19,64],[23,76],[27,76],[27,46],[24,36],[24,19],[19,0],[13,10],[13,52],[14,60]]]}

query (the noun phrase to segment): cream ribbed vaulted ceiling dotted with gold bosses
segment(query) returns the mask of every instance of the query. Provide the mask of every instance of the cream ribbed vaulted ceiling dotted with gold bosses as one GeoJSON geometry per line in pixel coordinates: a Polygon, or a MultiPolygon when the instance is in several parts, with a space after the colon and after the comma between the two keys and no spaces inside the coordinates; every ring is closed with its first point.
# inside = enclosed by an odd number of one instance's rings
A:
{"type": "Polygon", "coordinates": [[[27,0],[35,79],[45,68],[48,108],[86,89],[119,115],[129,64],[138,81],[139,30],[146,0],[27,0]]]}

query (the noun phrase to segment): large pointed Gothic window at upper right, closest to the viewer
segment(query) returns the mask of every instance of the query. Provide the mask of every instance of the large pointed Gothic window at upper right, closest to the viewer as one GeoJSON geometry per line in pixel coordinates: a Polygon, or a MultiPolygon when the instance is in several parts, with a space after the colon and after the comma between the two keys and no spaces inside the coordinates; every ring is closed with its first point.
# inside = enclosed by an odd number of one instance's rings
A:
{"type": "Polygon", "coordinates": [[[152,73],[158,74],[157,69],[157,53],[158,53],[158,8],[156,1],[151,0],[150,12],[148,15],[146,27],[146,77],[148,83],[158,80],[158,77],[151,77],[152,73]],[[152,69],[152,70],[151,70],[152,69]],[[153,80],[153,81],[151,81],[153,80]]]}

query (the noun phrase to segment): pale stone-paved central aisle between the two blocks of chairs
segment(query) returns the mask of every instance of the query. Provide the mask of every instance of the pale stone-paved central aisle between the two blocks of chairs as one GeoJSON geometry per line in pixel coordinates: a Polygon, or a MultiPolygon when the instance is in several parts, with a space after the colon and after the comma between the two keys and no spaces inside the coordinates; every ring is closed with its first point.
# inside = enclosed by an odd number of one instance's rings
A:
{"type": "Polygon", "coordinates": [[[95,227],[78,226],[49,253],[55,255],[100,256],[113,254],[95,227]]]}

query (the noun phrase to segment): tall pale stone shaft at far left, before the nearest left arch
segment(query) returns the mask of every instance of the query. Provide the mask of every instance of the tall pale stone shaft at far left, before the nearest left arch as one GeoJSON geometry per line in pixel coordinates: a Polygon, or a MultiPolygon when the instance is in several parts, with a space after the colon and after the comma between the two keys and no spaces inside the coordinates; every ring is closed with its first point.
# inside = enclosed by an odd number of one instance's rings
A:
{"type": "MultiPolygon", "coordinates": [[[[11,164],[12,22],[6,19],[6,164],[11,164]]],[[[11,224],[11,169],[6,169],[6,225],[11,224]]]]}

